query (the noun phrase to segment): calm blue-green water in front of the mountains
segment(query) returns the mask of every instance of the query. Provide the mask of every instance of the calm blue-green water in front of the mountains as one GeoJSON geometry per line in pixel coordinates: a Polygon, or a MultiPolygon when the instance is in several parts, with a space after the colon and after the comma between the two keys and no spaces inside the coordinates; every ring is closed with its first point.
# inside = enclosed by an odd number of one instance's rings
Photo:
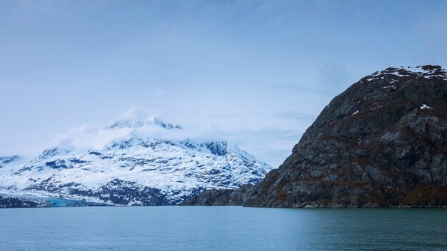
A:
{"type": "Polygon", "coordinates": [[[447,250],[443,209],[0,210],[0,250],[447,250]]]}

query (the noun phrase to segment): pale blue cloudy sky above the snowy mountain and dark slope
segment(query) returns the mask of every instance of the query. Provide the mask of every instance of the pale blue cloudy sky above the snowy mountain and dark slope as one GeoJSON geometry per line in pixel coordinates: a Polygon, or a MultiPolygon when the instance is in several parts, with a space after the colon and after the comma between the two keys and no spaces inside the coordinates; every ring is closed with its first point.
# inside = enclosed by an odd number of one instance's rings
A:
{"type": "Polygon", "coordinates": [[[0,155],[139,111],[277,167],[389,66],[447,66],[447,1],[0,1],[0,155]]]}

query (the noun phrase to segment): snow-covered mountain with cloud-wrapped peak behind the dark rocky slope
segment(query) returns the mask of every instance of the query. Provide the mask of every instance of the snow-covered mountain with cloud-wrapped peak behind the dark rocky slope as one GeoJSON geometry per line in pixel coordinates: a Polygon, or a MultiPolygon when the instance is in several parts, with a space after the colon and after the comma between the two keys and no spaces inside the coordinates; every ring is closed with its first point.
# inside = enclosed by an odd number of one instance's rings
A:
{"type": "Polygon", "coordinates": [[[179,139],[181,130],[156,118],[124,119],[101,129],[108,140],[96,148],[59,143],[31,160],[0,157],[0,202],[176,205],[206,189],[257,183],[271,170],[225,141],[179,139]]]}

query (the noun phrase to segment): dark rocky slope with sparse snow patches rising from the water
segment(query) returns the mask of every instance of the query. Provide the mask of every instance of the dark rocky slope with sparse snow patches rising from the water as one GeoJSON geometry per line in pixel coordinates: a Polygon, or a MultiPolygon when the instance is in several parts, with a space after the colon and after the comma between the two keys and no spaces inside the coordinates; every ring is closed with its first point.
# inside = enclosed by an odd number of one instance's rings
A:
{"type": "Polygon", "coordinates": [[[256,185],[208,190],[184,205],[447,205],[447,77],[387,68],[333,98],[292,154],[256,185]]]}

